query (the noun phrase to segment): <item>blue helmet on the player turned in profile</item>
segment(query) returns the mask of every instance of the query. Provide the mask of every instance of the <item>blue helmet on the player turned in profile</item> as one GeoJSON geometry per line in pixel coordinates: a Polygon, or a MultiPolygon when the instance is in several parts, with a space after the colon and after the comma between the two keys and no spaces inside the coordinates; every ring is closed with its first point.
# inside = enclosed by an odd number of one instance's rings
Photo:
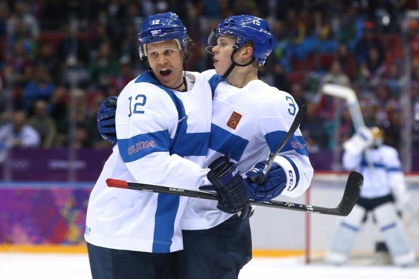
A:
{"type": "Polygon", "coordinates": [[[217,44],[217,38],[222,35],[235,38],[234,49],[239,49],[246,41],[252,42],[254,46],[252,60],[257,61],[259,67],[265,63],[274,45],[274,37],[269,24],[263,18],[253,15],[233,15],[221,21],[208,38],[206,48],[208,52],[213,54],[212,48],[217,44]]]}

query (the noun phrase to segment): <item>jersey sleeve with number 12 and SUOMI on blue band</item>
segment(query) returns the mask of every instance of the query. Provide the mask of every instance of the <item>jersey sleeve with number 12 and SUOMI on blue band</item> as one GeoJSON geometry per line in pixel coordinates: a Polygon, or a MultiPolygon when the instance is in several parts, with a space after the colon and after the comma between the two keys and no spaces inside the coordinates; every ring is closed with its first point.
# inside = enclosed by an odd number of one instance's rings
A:
{"type": "Polygon", "coordinates": [[[182,119],[165,91],[148,83],[127,86],[115,119],[120,156],[136,181],[180,188],[210,184],[206,168],[170,152],[182,119]]]}

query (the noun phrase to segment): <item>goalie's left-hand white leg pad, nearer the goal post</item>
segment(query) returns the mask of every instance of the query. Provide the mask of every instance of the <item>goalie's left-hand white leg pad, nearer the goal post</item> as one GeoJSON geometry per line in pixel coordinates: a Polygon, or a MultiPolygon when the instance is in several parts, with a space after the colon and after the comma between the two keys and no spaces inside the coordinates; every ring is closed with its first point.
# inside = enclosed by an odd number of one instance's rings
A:
{"type": "Polygon", "coordinates": [[[332,238],[330,251],[325,256],[326,262],[342,265],[348,260],[365,214],[365,208],[355,204],[351,213],[338,224],[332,238]]]}

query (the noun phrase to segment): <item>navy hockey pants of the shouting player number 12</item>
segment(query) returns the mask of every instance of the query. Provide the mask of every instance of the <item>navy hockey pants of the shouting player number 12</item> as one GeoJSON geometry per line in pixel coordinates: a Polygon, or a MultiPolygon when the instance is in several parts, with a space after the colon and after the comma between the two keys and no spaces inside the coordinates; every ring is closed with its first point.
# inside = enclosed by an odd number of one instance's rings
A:
{"type": "Polygon", "coordinates": [[[178,279],[177,253],[116,250],[87,243],[93,279],[178,279]]]}

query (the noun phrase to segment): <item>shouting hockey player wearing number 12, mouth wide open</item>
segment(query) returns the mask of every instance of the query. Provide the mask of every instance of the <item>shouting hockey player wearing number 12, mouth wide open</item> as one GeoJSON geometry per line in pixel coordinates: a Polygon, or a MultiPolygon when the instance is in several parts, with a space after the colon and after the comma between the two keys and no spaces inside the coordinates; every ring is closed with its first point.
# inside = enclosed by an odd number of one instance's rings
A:
{"type": "Polygon", "coordinates": [[[220,157],[210,171],[204,167],[211,90],[203,75],[184,71],[191,51],[186,27],[173,12],[148,16],[139,40],[141,59],[151,70],[119,95],[117,145],[87,209],[85,240],[94,279],[176,278],[176,254],[170,252],[183,248],[180,221],[187,197],[108,188],[108,177],[175,187],[213,184],[225,197],[225,210],[242,218],[249,210],[234,163],[220,157]]]}

